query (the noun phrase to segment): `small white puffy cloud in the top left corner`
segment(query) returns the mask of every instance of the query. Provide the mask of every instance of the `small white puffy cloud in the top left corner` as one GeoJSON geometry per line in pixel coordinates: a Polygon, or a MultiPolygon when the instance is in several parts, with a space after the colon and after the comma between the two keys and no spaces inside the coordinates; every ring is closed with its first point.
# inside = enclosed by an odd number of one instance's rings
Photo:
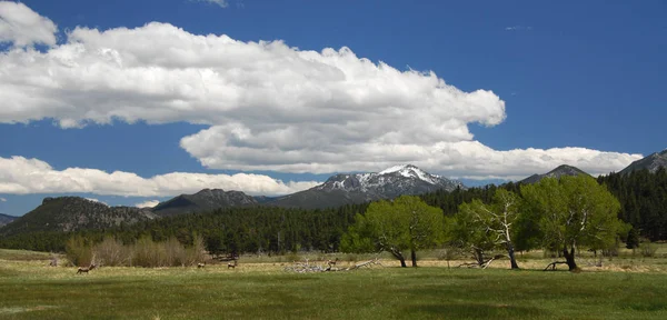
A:
{"type": "Polygon", "coordinates": [[[21,2],[0,2],[0,42],[16,47],[43,43],[56,44],[58,27],[49,18],[32,11],[21,2]]]}

